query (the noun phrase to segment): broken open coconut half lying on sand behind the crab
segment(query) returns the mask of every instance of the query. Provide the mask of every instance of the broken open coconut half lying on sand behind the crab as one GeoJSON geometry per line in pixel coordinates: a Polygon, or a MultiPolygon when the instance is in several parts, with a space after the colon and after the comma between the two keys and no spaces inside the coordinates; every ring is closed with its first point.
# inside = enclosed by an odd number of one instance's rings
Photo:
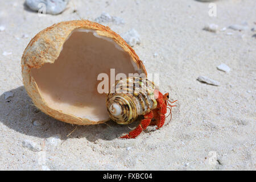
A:
{"type": "Polygon", "coordinates": [[[97,90],[110,69],[146,73],[134,50],[109,27],[88,20],[60,22],[39,32],[22,56],[22,77],[35,106],[60,121],[94,125],[109,120],[97,90]]]}

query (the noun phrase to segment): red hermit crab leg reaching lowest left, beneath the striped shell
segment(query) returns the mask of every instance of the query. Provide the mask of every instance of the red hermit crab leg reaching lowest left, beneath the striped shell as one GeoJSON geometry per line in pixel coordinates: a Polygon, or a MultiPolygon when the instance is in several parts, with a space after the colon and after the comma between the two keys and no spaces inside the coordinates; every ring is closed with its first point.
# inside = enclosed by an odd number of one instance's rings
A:
{"type": "Polygon", "coordinates": [[[142,119],[141,123],[133,131],[130,131],[128,135],[125,135],[120,138],[136,138],[139,134],[141,134],[143,130],[147,128],[152,118],[153,118],[153,112],[150,111],[149,113],[144,115],[144,119],[142,119]]]}

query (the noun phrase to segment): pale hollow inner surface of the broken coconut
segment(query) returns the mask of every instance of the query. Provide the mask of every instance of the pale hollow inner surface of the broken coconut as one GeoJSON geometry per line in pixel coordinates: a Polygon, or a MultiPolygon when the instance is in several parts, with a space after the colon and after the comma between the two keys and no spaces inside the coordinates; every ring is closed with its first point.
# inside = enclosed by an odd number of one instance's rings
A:
{"type": "MultiPolygon", "coordinates": [[[[54,63],[31,68],[30,77],[45,105],[60,113],[92,121],[74,122],[88,125],[109,120],[106,95],[97,90],[102,80],[97,77],[106,73],[110,82],[111,68],[115,69],[115,75],[144,72],[112,38],[98,35],[94,30],[77,28],[64,42],[54,63]]],[[[45,113],[58,118],[50,112],[45,113]]]]}

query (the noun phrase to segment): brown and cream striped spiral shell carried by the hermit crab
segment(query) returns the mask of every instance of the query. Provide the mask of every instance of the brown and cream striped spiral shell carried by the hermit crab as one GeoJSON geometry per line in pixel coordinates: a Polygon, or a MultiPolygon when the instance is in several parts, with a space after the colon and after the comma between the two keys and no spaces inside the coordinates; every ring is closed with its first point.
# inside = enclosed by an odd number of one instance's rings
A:
{"type": "Polygon", "coordinates": [[[107,94],[106,106],[110,118],[118,124],[129,124],[139,115],[149,113],[157,106],[154,82],[141,77],[128,77],[115,82],[107,94]]]}

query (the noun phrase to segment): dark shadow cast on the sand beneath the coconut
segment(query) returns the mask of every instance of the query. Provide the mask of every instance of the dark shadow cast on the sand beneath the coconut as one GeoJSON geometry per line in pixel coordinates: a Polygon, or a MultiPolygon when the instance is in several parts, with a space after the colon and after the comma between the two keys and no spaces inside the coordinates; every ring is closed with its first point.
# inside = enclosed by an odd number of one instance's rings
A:
{"type": "MultiPolygon", "coordinates": [[[[19,133],[39,138],[48,138],[55,134],[60,134],[61,139],[86,138],[90,142],[97,139],[113,140],[124,133],[129,133],[127,126],[118,125],[109,121],[100,125],[79,126],[58,121],[38,110],[28,97],[24,86],[9,90],[14,93],[14,97],[5,99],[5,95],[0,96],[2,109],[0,110],[0,122],[18,131],[19,133]],[[44,123],[42,126],[34,126],[34,121],[44,123]],[[77,127],[77,128],[76,128],[77,127]],[[67,137],[74,129],[76,130],[67,137]]],[[[134,122],[129,127],[135,127],[138,122],[134,122]]]]}

